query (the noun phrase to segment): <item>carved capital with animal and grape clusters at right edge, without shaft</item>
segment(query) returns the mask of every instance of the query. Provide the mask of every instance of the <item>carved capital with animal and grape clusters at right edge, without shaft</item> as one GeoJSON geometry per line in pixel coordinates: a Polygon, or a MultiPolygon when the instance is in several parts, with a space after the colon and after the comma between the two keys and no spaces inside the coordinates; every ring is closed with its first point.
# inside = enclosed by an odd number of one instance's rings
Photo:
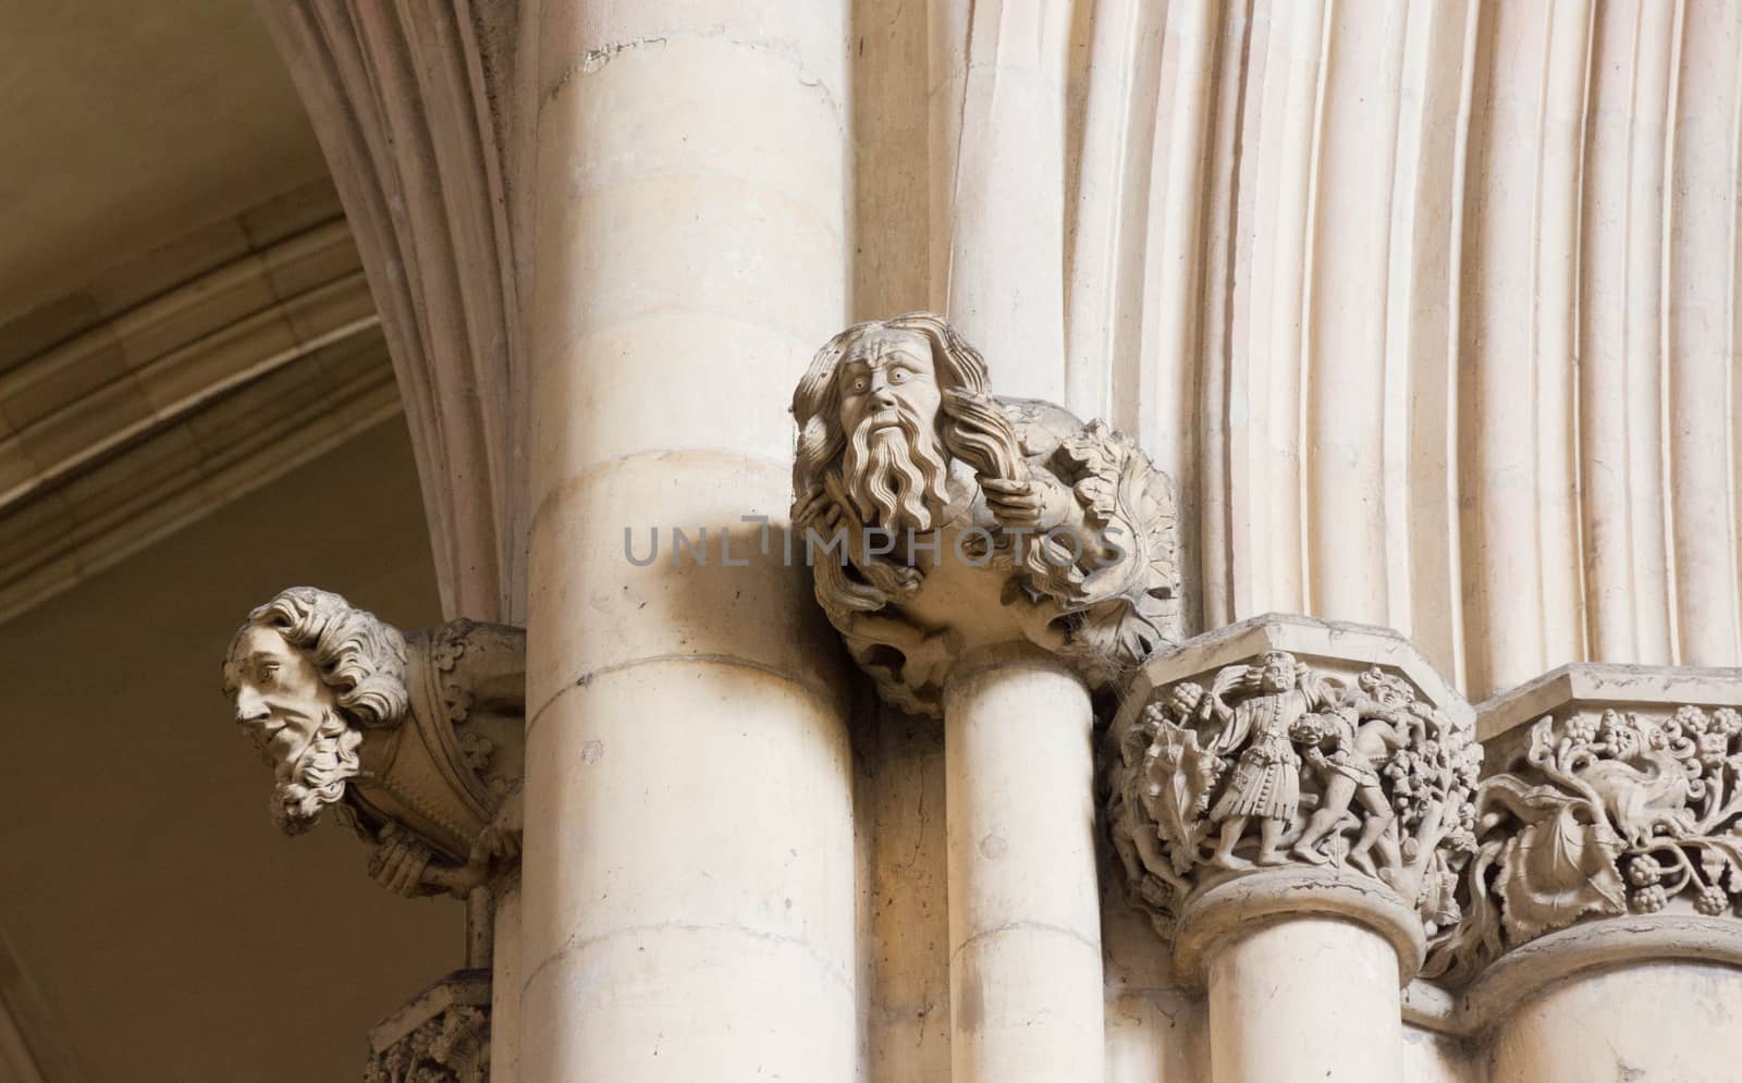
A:
{"type": "Polygon", "coordinates": [[[1495,773],[1456,933],[1425,973],[1624,914],[1732,916],[1742,902],[1742,672],[1578,665],[1482,707],[1495,773]],[[1695,702],[1688,702],[1695,700],[1695,702]]]}

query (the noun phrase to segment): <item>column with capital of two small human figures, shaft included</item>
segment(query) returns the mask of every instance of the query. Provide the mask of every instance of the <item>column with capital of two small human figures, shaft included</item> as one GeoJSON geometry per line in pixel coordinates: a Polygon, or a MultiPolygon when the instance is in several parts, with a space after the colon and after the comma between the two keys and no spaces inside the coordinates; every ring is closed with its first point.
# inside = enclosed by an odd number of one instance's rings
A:
{"type": "Polygon", "coordinates": [[[1259,616],[1144,667],[1110,743],[1136,902],[1209,998],[1216,1083],[1390,1083],[1451,916],[1474,712],[1395,634],[1259,616]]]}

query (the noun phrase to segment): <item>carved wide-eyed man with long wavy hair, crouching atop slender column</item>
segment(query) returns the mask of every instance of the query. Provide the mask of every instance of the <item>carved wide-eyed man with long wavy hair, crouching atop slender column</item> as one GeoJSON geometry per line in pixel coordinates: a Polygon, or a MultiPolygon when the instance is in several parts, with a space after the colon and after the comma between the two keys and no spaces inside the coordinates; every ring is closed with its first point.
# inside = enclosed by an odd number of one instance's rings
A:
{"type": "Polygon", "coordinates": [[[1101,421],[993,397],[942,317],[834,336],[793,413],[817,601],[897,707],[939,714],[976,646],[1031,641],[1103,684],[1178,642],[1172,484],[1101,421]]]}

